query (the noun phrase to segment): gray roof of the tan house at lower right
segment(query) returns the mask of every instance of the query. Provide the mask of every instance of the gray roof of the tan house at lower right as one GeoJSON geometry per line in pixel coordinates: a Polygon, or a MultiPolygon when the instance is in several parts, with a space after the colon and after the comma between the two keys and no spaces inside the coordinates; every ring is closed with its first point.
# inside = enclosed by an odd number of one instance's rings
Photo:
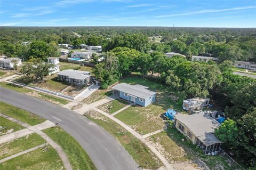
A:
{"type": "Polygon", "coordinates": [[[174,117],[184,124],[189,131],[205,145],[221,143],[221,141],[214,136],[214,129],[220,126],[220,123],[214,118],[204,113],[194,115],[177,114],[174,115],[174,117]]]}

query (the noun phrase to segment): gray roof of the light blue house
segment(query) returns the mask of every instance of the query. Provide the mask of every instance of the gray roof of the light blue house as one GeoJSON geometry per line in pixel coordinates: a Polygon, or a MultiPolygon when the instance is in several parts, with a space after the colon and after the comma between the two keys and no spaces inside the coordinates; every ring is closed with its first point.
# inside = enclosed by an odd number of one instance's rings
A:
{"type": "Polygon", "coordinates": [[[117,84],[112,89],[121,91],[133,96],[137,96],[138,98],[146,99],[149,98],[151,95],[156,94],[154,91],[150,91],[147,89],[148,87],[142,85],[131,85],[127,83],[117,84]]]}

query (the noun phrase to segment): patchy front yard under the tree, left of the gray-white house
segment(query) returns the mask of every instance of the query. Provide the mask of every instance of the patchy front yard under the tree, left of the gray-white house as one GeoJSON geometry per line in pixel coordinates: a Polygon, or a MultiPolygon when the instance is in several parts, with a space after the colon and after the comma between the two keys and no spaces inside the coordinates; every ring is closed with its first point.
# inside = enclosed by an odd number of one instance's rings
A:
{"type": "Polygon", "coordinates": [[[44,78],[44,80],[33,80],[31,77],[22,76],[15,79],[15,82],[27,84],[34,87],[44,88],[53,92],[61,92],[67,88],[70,84],[67,82],[59,82],[56,80],[57,75],[49,75],[44,78]]]}

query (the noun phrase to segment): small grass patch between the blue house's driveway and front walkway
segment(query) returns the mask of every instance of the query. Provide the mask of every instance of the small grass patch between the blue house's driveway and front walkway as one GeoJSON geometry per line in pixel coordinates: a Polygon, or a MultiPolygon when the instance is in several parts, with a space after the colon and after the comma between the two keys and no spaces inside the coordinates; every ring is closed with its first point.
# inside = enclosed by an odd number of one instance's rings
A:
{"type": "Polygon", "coordinates": [[[99,106],[97,108],[107,112],[108,114],[114,114],[114,112],[127,106],[127,104],[130,104],[130,103],[128,103],[122,99],[116,99],[116,100],[110,101],[106,104],[102,104],[101,106],[99,106]]]}

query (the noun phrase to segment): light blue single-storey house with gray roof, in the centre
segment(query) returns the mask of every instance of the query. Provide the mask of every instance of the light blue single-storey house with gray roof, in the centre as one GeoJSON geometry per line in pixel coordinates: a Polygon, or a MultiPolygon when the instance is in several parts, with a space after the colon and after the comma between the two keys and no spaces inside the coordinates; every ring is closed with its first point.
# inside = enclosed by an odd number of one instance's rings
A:
{"type": "Polygon", "coordinates": [[[146,107],[156,100],[156,92],[150,91],[148,87],[142,85],[131,85],[127,83],[117,84],[112,87],[113,92],[119,93],[119,98],[134,102],[140,106],[146,107]]]}

